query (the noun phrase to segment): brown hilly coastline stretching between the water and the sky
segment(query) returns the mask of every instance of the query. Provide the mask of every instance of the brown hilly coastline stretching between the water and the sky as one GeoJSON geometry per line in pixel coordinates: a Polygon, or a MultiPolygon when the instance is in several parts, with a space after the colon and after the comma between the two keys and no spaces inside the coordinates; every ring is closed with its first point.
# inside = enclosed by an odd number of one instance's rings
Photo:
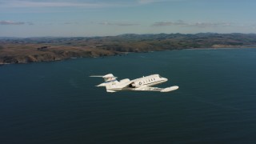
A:
{"type": "Polygon", "coordinates": [[[0,64],[94,58],[127,52],[239,47],[256,47],[256,34],[122,34],[90,38],[0,38],[0,64]]]}

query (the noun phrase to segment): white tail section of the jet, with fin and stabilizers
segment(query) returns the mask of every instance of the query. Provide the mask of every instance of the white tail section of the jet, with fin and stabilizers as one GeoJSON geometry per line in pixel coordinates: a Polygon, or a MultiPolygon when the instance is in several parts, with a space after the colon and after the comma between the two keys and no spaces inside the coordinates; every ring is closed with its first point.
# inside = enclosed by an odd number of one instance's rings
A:
{"type": "Polygon", "coordinates": [[[106,91],[107,92],[116,92],[115,90],[111,90],[115,87],[115,85],[118,83],[118,80],[116,79],[117,77],[114,77],[113,74],[106,74],[103,76],[99,75],[92,75],[90,77],[100,77],[104,78],[104,82],[99,84],[98,86],[106,86],[106,91]]]}

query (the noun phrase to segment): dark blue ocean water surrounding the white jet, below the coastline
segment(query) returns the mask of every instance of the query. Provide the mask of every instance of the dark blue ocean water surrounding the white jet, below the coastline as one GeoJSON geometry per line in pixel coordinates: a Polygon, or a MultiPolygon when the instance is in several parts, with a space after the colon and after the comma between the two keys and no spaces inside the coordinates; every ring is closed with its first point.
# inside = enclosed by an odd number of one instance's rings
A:
{"type": "Polygon", "coordinates": [[[0,143],[256,143],[256,49],[172,50],[0,66],[0,143]],[[170,93],[106,93],[160,74],[170,93]]]}

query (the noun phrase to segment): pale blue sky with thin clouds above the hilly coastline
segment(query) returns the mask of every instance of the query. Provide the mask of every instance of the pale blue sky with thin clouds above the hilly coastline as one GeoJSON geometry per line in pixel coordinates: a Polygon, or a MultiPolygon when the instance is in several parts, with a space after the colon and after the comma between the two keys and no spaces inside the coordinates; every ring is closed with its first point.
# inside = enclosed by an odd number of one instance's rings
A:
{"type": "Polygon", "coordinates": [[[255,0],[0,0],[0,37],[256,33],[255,0]]]}

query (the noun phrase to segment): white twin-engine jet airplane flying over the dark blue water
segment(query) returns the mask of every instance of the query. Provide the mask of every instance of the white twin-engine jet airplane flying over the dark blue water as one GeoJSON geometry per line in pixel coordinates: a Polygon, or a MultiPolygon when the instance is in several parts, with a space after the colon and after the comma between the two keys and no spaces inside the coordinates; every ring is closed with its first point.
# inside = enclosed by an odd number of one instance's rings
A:
{"type": "Polygon", "coordinates": [[[122,79],[118,82],[117,77],[113,74],[106,74],[103,76],[92,75],[90,77],[104,78],[103,83],[98,86],[105,86],[106,92],[114,93],[121,90],[140,90],[140,91],[159,91],[159,92],[170,92],[177,90],[178,86],[170,86],[166,88],[151,87],[162,82],[168,81],[167,78],[162,78],[159,74],[152,74],[142,78],[136,78],[130,80],[129,78],[122,79]]]}

